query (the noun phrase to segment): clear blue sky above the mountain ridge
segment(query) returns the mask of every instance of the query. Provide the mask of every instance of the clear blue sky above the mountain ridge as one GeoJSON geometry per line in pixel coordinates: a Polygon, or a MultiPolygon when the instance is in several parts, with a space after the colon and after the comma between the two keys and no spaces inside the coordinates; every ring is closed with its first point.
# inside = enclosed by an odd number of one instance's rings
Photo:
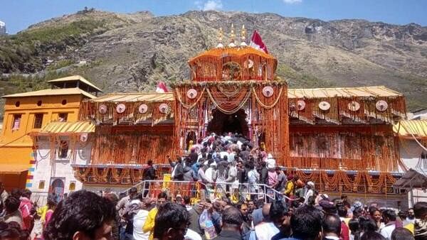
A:
{"type": "Polygon", "coordinates": [[[85,6],[122,13],[151,11],[155,16],[214,9],[271,12],[325,21],[362,18],[427,26],[426,0],[1,0],[0,21],[6,22],[9,33],[16,33],[33,23],[75,13],[85,6]]]}

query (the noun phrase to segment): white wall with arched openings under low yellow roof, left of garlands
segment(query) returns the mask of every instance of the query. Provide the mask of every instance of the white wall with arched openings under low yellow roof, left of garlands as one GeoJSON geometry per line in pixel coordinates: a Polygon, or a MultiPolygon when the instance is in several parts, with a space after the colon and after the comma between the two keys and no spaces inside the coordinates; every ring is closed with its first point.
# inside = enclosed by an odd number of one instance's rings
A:
{"type": "MultiPolygon", "coordinates": [[[[69,141],[68,136],[60,137],[62,141],[69,141]]],[[[68,149],[68,158],[59,158],[58,151],[51,153],[51,143],[48,137],[41,137],[38,141],[38,150],[36,151],[36,164],[33,172],[32,186],[29,188],[33,192],[32,199],[37,201],[39,206],[46,203],[48,191],[51,187],[51,182],[55,178],[61,178],[64,182],[63,193],[82,189],[83,184],[75,179],[73,168],[71,168],[71,146],[68,149]],[[55,154],[55,166],[51,164],[51,154],[55,154]],[[44,181],[44,187],[41,186],[41,181],[44,181]],[[75,190],[70,190],[70,183],[75,183],[75,190]]],[[[75,147],[76,159],[75,164],[87,164],[90,160],[91,143],[77,143],[75,147]]]]}

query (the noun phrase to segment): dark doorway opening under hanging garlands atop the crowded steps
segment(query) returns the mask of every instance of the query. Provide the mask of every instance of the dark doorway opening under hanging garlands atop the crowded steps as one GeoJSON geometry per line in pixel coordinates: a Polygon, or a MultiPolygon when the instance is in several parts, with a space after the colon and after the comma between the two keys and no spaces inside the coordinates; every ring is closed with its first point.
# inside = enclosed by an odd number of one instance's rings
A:
{"type": "Polygon", "coordinates": [[[224,114],[218,109],[212,110],[213,119],[208,124],[208,132],[221,135],[223,133],[241,133],[248,137],[248,123],[243,109],[234,114],[224,114]]]}

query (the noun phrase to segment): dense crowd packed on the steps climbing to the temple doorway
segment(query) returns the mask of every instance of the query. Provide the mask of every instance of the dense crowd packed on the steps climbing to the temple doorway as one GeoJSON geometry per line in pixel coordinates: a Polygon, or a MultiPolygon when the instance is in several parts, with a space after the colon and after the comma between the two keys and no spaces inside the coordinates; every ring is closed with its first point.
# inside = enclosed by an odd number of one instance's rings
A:
{"type": "MultiPolygon", "coordinates": [[[[251,141],[238,133],[212,133],[196,144],[190,141],[188,156],[175,161],[167,157],[172,180],[200,182],[206,195],[227,192],[235,202],[241,197],[237,196],[239,192],[255,193],[263,190],[262,185],[268,186],[269,195],[307,200],[314,193],[310,190],[314,183],[285,175],[263,145],[254,148],[251,141]]],[[[154,180],[154,175],[144,176],[144,180],[154,180]]]]}

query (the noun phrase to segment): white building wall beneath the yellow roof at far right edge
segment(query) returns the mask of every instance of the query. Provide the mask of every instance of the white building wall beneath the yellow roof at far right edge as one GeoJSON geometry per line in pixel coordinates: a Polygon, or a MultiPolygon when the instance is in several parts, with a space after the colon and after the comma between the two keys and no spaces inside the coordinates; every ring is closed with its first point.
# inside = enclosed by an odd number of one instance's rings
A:
{"type": "MultiPolygon", "coordinates": [[[[416,165],[421,159],[421,153],[427,154],[426,151],[423,151],[423,148],[416,143],[415,140],[411,139],[400,139],[399,141],[399,151],[402,162],[406,167],[416,169],[416,165]]],[[[427,166],[421,166],[421,170],[427,173],[427,166]],[[424,169],[423,169],[424,168],[424,169]]],[[[416,202],[427,202],[427,191],[424,190],[413,190],[413,203],[416,202]]],[[[411,207],[411,192],[408,192],[408,205],[411,207]]]]}

